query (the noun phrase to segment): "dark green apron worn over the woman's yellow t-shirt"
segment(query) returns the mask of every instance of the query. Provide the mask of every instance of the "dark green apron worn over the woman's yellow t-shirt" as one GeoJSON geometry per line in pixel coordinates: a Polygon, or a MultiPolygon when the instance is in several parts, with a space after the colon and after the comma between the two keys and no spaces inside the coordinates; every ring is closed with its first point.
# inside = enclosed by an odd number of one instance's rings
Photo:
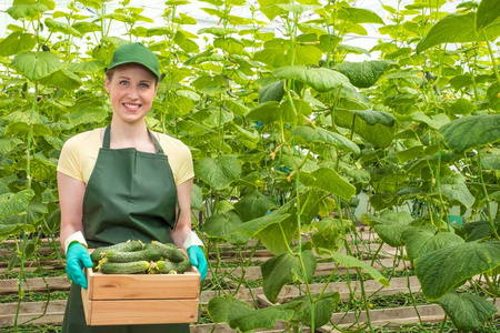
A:
{"type": "MultiPolygon", "coordinates": [[[[110,127],[90,175],[83,198],[83,234],[89,248],[127,240],[172,242],[179,208],[172,170],[159,142],[157,153],[134,148],[110,149],[110,127]]],[[[189,332],[189,324],[88,326],[81,287],[72,284],[62,322],[62,333],[189,332]]]]}

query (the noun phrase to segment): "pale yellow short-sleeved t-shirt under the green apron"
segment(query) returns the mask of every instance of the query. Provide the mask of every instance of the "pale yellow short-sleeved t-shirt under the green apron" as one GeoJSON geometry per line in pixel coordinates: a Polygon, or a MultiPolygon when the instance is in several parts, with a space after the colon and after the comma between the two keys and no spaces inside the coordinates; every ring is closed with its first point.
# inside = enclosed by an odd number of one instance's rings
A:
{"type": "MultiPolygon", "coordinates": [[[[89,182],[93,167],[102,147],[101,129],[83,132],[69,139],[61,150],[58,171],[71,178],[89,182]]],[[[158,138],[158,137],[157,137],[158,138]]],[[[176,184],[179,185],[194,176],[192,157],[189,148],[180,140],[159,133],[163,153],[169,158],[176,184]]]]}

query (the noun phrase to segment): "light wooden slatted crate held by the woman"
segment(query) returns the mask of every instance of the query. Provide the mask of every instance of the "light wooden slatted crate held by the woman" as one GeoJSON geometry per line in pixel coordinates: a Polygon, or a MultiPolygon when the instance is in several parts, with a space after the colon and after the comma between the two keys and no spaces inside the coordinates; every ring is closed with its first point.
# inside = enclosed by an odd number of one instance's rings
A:
{"type": "Polygon", "coordinates": [[[192,323],[198,320],[200,273],[102,274],[86,269],[81,290],[88,325],[192,323]]]}

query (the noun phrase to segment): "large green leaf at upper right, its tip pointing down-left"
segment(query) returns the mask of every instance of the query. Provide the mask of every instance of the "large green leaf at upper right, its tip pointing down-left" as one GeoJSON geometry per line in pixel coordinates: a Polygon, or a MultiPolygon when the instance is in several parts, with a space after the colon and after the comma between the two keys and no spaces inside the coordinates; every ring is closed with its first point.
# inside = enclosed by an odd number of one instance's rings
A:
{"type": "Polygon", "coordinates": [[[422,52],[442,43],[467,43],[494,40],[500,36],[500,23],[488,27],[484,32],[476,31],[476,13],[449,14],[439,20],[429,33],[417,44],[417,52],[422,52]]]}

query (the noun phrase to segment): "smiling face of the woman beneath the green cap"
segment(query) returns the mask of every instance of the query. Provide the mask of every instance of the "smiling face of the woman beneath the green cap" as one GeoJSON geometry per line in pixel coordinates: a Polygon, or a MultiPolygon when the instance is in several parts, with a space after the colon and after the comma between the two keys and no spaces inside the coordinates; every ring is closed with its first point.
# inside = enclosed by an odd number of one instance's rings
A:
{"type": "Polygon", "coordinates": [[[142,121],[151,110],[158,84],[154,74],[147,68],[127,63],[113,68],[111,79],[106,77],[106,90],[113,108],[113,118],[133,123],[142,121]]]}

